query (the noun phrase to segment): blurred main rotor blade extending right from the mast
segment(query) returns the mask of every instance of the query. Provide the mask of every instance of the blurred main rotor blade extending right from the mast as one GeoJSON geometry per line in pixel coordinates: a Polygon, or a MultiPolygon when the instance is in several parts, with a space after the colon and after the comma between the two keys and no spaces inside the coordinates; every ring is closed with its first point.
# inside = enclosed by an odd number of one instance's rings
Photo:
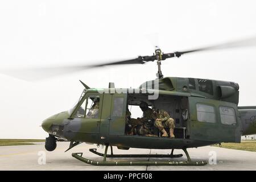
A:
{"type": "Polygon", "coordinates": [[[233,42],[222,43],[222,44],[217,44],[214,46],[190,49],[188,51],[181,51],[181,52],[177,51],[174,53],[164,53],[163,60],[165,60],[167,58],[171,58],[171,57],[180,57],[181,55],[184,55],[185,53],[210,51],[210,50],[217,50],[217,49],[238,48],[238,47],[252,47],[252,46],[256,46],[256,37],[249,38],[249,39],[237,40],[237,41],[233,41],[233,42]]]}

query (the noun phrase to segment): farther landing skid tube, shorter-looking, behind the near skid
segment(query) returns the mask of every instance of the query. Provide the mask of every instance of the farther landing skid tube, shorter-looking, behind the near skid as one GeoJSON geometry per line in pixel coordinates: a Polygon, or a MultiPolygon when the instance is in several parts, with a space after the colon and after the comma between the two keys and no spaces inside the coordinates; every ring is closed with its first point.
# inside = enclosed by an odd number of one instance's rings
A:
{"type": "MultiPolygon", "coordinates": [[[[97,148],[90,148],[93,154],[104,156],[104,154],[97,152],[97,148]]],[[[107,158],[181,158],[183,154],[107,154],[107,158]]]]}

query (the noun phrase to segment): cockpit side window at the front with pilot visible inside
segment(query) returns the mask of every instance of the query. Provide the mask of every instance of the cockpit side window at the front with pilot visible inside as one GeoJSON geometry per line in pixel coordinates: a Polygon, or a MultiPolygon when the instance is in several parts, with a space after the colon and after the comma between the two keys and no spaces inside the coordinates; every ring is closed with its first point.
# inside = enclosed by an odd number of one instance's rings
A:
{"type": "Polygon", "coordinates": [[[88,96],[77,110],[77,118],[98,118],[100,108],[100,96],[88,96]]]}

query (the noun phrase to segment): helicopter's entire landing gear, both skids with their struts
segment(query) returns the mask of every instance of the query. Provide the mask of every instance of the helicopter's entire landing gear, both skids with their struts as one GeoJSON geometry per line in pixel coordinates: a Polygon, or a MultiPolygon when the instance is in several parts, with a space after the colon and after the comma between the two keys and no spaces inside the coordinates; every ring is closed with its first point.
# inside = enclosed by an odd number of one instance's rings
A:
{"type": "Polygon", "coordinates": [[[187,155],[188,160],[187,161],[106,161],[106,158],[180,158],[183,156],[182,154],[174,155],[173,150],[171,154],[168,155],[150,155],[150,154],[127,154],[127,155],[114,155],[113,150],[112,154],[108,155],[106,152],[108,151],[108,146],[105,148],[105,154],[101,154],[100,152],[96,151],[96,148],[90,148],[90,152],[93,152],[94,154],[97,154],[99,156],[104,156],[103,161],[97,161],[97,160],[90,160],[82,157],[82,152],[80,153],[72,153],[72,156],[78,160],[81,160],[82,162],[85,162],[87,164],[92,164],[95,166],[204,166],[207,164],[205,161],[199,161],[199,162],[193,162],[191,161],[188,152],[186,149],[184,149],[185,154],[187,155]]]}

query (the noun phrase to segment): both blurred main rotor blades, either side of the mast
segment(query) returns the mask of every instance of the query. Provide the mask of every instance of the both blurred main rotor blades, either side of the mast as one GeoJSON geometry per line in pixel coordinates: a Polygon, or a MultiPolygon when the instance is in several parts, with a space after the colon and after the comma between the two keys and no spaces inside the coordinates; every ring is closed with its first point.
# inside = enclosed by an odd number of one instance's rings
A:
{"type": "MultiPolygon", "coordinates": [[[[214,46],[190,49],[187,51],[163,53],[162,60],[166,60],[171,57],[180,57],[185,53],[216,50],[216,49],[251,47],[251,46],[256,46],[256,37],[250,38],[250,39],[238,40],[234,42],[217,44],[214,46]]],[[[100,64],[94,64],[94,65],[77,64],[77,65],[69,65],[69,66],[61,65],[56,67],[41,67],[41,68],[1,69],[0,73],[9,75],[15,78],[20,78],[22,80],[37,81],[37,80],[43,80],[49,77],[64,75],[66,73],[79,72],[79,71],[83,71],[85,69],[90,69],[90,68],[104,67],[107,65],[144,64],[144,63],[147,63],[148,61],[154,61],[154,60],[156,60],[155,55],[138,56],[135,59],[112,61],[109,63],[100,63],[100,64]]]]}

